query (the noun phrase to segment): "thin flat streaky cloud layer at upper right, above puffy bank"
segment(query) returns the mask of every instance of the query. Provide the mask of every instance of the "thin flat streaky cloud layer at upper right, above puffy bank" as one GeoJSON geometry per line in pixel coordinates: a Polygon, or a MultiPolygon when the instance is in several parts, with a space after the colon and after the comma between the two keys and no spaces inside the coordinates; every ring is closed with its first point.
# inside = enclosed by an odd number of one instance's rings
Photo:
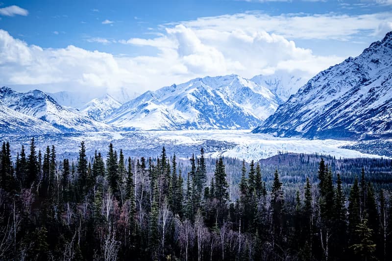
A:
{"type": "Polygon", "coordinates": [[[378,26],[392,22],[392,12],[364,15],[342,14],[282,14],[270,16],[260,12],[203,17],[184,21],[187,27],[196,30],[214,29],[232,31],[241,28],[246,32],[267,31],[289,39],[321,39],[348,41],[362,32],[375,32],[378,26]]]}

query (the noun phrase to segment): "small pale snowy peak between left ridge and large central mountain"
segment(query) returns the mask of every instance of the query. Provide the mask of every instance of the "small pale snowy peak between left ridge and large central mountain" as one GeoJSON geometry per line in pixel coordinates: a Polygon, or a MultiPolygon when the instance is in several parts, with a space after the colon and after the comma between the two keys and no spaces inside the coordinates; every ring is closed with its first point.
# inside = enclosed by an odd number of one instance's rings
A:
{"type": "Polygon", "coordinates": [[[95,98],[89,101],[80,111],[92,119],[102,121],[121,105],[122,104],[119,101],[107,94],[104,97],[95,98]]]}

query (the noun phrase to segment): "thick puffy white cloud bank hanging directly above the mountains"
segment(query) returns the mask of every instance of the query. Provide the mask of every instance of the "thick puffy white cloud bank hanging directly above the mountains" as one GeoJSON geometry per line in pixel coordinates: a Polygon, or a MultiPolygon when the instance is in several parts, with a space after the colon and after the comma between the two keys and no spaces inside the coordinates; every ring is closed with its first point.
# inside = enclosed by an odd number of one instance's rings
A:
{"type": "MultiPolygon", "coordinates": [[[[315,56],[310,49],[296,47],[293,41],[264,31],[249,34],[209,30],[201,35],[176,25],[155,39],[123,41],[156,47],[157,55],[118,57],[74,46],[29,46],[0,30],[0,82],[48,92],[56,86],[66,86],[70,91],[125,88],[140,93],[206,75],[237,73],[252,77],[275,70],[299,70],[311,75],[343,59],[315,56]]],[[[90,40],[106,43],[105,39],[90,40]]]]}

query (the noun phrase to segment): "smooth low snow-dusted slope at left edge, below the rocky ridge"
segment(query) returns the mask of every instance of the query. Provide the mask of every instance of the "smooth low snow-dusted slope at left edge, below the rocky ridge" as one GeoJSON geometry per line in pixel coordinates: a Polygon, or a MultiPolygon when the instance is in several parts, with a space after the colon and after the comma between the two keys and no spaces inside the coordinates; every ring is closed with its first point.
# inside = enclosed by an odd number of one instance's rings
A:
{"type": "Polygon", "coordinates": [[[16,112],[0,102],[1,134],[47,134],[60,133],[48,122],[16,112]]]}

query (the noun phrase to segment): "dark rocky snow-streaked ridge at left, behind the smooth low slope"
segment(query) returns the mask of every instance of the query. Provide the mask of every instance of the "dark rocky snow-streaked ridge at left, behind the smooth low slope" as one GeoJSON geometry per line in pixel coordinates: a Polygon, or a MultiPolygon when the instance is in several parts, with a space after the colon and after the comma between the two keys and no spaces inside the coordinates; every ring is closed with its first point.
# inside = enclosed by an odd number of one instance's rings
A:
{"type": "Polygon", "coordinates": [[[0,99],[2,104],[8,108],[47,121],[62,132],[112,130],[104,123],[62,107],[52,97],[39,90],[18,93],[8,87],[2,87],[0,88],[0,99]]]}

